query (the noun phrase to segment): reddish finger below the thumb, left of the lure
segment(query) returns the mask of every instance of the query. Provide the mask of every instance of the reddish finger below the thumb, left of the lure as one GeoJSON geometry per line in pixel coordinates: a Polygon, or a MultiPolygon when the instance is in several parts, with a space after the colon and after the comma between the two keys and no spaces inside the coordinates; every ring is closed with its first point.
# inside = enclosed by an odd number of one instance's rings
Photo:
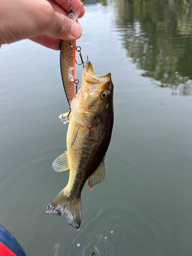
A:
{"type": "Polygon", "coordinates": [[[41,46],[45,46],[47,48],[50,48],[52,50],[60,50],[60,39],[53,38],[47,34],[41,34],[39,36],[36,36],[34,38],[30,39],[33,42],[37,42],[37,44],[41,46]]]}

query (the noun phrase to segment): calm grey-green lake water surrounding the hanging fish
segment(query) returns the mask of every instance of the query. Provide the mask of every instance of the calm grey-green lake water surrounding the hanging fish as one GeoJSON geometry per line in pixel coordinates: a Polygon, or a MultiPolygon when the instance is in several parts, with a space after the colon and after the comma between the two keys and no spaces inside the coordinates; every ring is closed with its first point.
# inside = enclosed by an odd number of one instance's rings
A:
{"type": "Polygon", "coordinates": [[[79,19],[77,45],[96,75],[112,73],[105,179],[84,185],[79,231],[45,214],[69,178],[52,169],[68,129],[58,119],[69,110],[59,52],[29,40],[3,45],[0,224],[28,256],[191,256],[191,1],[95,2],[79,19]]]}

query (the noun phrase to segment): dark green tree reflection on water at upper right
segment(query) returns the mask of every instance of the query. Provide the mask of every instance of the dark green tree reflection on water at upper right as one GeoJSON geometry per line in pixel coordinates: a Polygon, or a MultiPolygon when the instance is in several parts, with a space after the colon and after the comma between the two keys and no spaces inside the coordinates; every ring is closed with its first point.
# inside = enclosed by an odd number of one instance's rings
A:
{"type": "Polygon", "coordinates": [[[123,47],[143,76],[172,94],[192,94],[191,1],[114,0],[123,47]]]}

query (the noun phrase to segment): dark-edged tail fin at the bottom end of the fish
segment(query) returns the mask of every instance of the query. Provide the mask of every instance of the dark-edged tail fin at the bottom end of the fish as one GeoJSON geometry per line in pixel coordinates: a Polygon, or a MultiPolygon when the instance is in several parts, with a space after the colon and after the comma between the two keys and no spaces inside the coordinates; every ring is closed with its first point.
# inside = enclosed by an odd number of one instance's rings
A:
{"type": "Polygon", "coordinates": [[[59,215],[78,229],[81,224],[81,199],[70,200],[69,195],[63,189],[48,205],[46,214],[59,215]]]}

